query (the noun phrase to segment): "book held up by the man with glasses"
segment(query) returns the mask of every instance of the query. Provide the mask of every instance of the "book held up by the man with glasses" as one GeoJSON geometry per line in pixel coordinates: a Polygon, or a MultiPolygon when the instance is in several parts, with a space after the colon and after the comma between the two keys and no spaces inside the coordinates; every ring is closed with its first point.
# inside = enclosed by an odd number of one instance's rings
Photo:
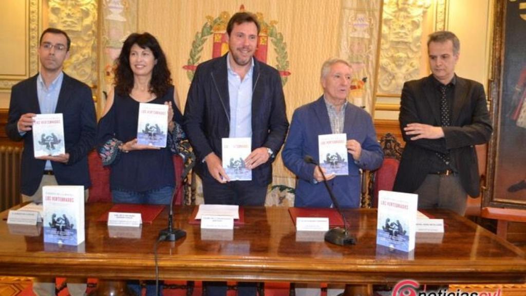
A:
{"type": "Polygon", "coordinates": [[[35,157],[66,153],[62,113],[37,114],[33,117],[33,151],[35,157]]]}

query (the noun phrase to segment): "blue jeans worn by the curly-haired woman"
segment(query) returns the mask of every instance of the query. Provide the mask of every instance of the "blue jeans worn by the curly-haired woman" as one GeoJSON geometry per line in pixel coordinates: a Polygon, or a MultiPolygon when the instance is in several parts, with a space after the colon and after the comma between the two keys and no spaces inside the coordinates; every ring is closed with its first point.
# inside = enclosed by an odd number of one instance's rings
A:
{"type": "Polygon", "coordinates": [[[113,203],[170,204],[174,194],[173,186],[147,191],[112,190],[113,203]]]}

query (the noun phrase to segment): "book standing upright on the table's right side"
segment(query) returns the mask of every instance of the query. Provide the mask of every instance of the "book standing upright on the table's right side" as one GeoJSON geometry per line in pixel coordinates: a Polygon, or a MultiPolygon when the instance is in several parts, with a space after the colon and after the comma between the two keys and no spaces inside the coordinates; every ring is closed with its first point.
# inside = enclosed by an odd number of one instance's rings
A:
{"type": "Polygon", "coordinates": [[[414,249],[418,195],[380,190],[376,243],[410,252],[414,249]]]}

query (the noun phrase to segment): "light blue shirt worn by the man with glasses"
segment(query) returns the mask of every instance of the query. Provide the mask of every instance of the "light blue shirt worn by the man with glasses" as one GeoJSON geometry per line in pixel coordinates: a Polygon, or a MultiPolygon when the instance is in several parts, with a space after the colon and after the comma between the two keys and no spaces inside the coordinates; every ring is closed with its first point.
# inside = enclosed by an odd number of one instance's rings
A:
{"type": "MultiPolygon", "coordinates": [[[[64,80],[64,72],[60,72],[55,80],[46,87],[42,75],[38,74],[36,79],[36,93],[38,96],[38,105],[40,106],[41,114],[52,114],[55,113],[58,102],[58,94],[62,87],[62,81],[64,80]]],[[[51,161],[46,161],[46,171],[52,171],[51,161]]]]}

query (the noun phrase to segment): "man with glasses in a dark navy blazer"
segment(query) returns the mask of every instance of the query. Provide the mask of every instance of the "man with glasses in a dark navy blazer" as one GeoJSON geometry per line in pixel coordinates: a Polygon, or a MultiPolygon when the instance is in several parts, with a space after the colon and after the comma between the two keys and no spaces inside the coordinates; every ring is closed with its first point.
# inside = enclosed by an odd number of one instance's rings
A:
{"type": "MultiPolygon", "coordinates": [[[[89,86],[62,72],[70,44],[64,31],[47,28],[38,47],[40,72],[11,90],[5,130],[10,139],[24,140],[20,182],[24,202],[42,202],[42,187],[46,185],[90,186],[87,154],[95,143],[95,105],[89,86]],[[63,114],[66,153],[37,159],[33,151],[33,117],[49,113],[63,114]]],[[[85,193],[87,199],[87,190],[85,193]]],[[[83,295],[86,284],[69,284],[68,290],[72,295],[83,295]]],[[[55,284],[50,279],[35,279],[34,292],[54,295],[55,284]]]]}

